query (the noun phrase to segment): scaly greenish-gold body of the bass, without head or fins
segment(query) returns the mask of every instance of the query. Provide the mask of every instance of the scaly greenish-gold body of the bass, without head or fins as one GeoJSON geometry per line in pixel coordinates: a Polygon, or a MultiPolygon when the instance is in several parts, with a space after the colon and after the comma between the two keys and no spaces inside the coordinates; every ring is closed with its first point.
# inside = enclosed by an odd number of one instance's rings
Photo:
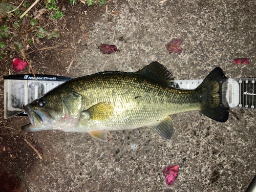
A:
{"type": "MultiPolygon", "coordinates": [[[[89,76],[72,80],[63,87],[83,96],[83,110],[99,102],[114,105],[113,117],[106,121],[91,121],[86,132],[95,129],[135,129],[168,115],[199,110],[201,103],[195,91],[177,90],[166,83],[145,79],[137,74],[89,76]]],[[[74,130],[84,132],[84,127],[74,127],[74,130]]]]}

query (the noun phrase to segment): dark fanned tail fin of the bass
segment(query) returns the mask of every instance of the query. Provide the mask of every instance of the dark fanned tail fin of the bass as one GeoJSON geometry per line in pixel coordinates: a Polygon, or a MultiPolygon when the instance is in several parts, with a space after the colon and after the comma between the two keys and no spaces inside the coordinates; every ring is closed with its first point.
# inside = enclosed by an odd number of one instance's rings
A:
{"type": "MultiPolygon", "coordinates": [[[[196,89],[203,98],[200,113],[219,122],[228,120],[229,108],[222,104],[222,99],[226,99],[227,77],[220,67],[212,70],[196,89]]],[[[225,103],[225,102],[223,102],[225,103]]]]}

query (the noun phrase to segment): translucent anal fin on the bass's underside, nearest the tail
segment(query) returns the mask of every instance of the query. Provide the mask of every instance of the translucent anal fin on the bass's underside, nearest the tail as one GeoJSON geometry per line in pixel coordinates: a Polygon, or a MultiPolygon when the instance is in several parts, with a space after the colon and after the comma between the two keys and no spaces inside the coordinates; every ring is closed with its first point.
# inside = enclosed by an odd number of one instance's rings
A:
{"type": "Polygon", "coordinates": [[[174,124],[170,116],[155,122],[150,126],[154,132],[163,137],[164,139],[170,139],[174,134],[174,124]]]}

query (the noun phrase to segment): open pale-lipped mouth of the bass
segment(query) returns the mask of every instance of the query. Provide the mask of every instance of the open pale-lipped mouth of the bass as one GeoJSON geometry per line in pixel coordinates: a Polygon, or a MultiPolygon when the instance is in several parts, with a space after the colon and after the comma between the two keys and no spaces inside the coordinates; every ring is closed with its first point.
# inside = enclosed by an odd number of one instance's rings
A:
{"type": "Polygon", "coordinates": [[[48,115],[44,112],[37,110],[31,110],[29,104],[24,107],[24,110],[28,114],[31,124],[22,126],[22,131],[36,132],[46,130],[44,123],[48,121],[48,115]]]}

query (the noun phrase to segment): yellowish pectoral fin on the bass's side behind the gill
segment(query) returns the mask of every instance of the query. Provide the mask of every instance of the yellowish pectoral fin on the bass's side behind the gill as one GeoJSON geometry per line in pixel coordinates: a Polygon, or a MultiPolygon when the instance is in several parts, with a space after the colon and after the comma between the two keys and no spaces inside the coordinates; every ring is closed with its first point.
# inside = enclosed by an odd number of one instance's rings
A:
{"type": "Polygon", "coordinates": [[[114,107],[110,102],[100,102],[97,103],[82,114],[87,117],[87,119],[103,121],[111,117],[113,114],[114,107]]]}

